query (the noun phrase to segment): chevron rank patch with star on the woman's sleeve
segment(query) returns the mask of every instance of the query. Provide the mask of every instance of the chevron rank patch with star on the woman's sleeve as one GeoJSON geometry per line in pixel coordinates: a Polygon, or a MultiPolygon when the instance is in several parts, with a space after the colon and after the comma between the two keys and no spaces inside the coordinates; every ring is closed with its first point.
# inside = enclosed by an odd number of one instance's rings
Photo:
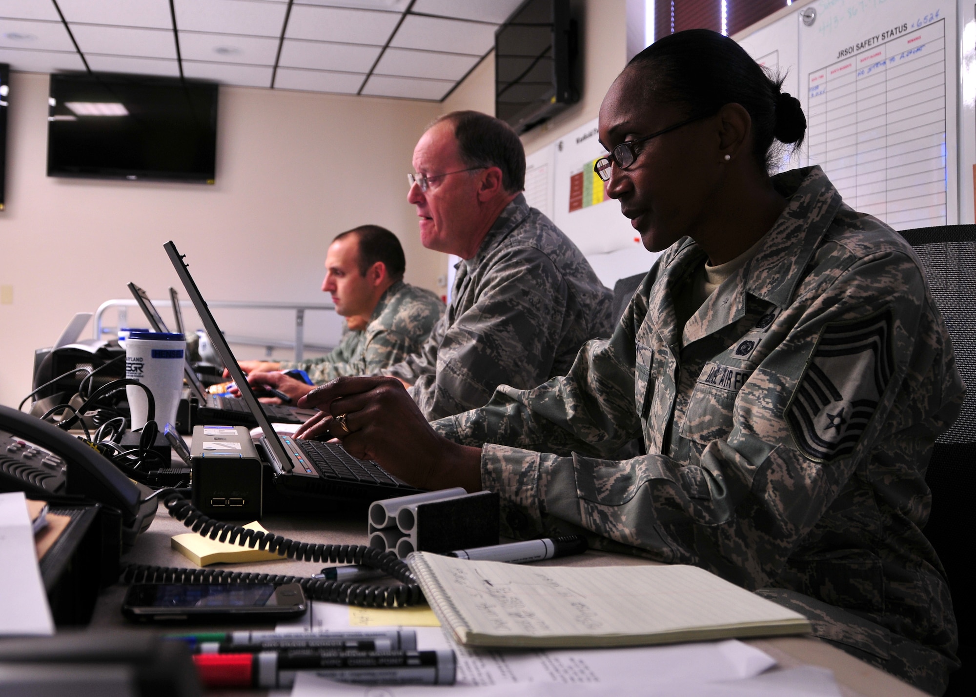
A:
{"type": "Polygon", "coordinates": [[[800,452],[820,462],[850,455],[893,372],[889,310],[828,324],[787,407],[800,452]]]}

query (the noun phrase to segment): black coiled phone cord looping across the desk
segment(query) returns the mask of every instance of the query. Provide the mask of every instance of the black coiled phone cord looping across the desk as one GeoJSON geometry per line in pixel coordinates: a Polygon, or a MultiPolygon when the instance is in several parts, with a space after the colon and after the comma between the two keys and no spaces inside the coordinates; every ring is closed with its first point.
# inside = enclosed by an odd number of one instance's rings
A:
{"type": "Polygon", "coordinates": [[[342,602],[363,607],[406,607],[424,600],[424,594],[410,567],[391,552],[380,552],[364,545],[314,545],[297,542],[260,530],[215,520],[178,492],[163,497],[163,506],[170,515],[181,520],[193,532],[211,540],[249,547],[287,556],[299,561],[351,563],[381,569],[399,583],[394,586],[374,586],[365,583],[344,583],[299,576],[247,573],[224,569],[185,569],[179,567],[130,564],[122,569],[121,581],[131,583],[189,583],[189,584],[286,584],[302,586],[305,596],[312,600],[342,602]]]}

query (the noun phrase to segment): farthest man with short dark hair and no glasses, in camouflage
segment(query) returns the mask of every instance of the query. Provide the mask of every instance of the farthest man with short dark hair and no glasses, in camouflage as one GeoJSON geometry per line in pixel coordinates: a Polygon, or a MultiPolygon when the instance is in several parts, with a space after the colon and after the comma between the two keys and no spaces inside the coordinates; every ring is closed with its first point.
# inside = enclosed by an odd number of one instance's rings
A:
{"type": "MultiPolygon", "coordinates": [[[[337,235],[325,258],[322,291],[346,317],[339,346],[298,363],[245,360],[241,369],[256,374],[297,368],[322,384],[341,375],[378,375],[420,350],[444,304],[430,291],[404,283],[405,267],[400,241],[385,227],[360,225],[337,235]]],[[[294,400],[311,389],[281,373],[264,382],[294,400]]]]}

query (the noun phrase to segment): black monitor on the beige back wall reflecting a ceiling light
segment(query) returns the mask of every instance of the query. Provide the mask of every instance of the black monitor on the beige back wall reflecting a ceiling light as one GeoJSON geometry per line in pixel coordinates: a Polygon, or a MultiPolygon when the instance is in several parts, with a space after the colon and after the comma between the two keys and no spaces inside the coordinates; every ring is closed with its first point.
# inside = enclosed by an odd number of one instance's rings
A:
{"type": "Polygon", "coordinates": [[[48,176],[214,183],[214,83],[56,73],[48,100],[48,176]]]}

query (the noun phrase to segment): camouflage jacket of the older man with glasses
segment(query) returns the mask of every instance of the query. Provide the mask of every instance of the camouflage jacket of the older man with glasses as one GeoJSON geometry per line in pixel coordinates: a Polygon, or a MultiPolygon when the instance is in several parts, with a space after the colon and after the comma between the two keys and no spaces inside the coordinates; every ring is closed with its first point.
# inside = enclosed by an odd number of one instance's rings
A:
{"type": "Polygon", "coordinates": [[[457,268],[427,344],[384,371],[413,385],[428,420],[482,406],[500,385],[524,390],[565,375],[586,341],[613,330],[612,293],[521,194],[457,268]]]}

